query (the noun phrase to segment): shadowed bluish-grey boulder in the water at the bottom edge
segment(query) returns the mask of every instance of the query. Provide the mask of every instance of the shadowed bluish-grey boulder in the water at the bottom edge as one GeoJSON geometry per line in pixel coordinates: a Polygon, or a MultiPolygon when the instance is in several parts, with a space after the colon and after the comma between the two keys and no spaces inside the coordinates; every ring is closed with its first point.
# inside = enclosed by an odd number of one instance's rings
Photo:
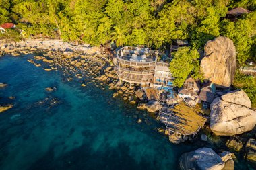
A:
{"type": "Polygon", "coordinates": [[[183,153],[180,159],[181,169],[198,169],[198,170],[221,170],[225,163],[212,148],[199,148],[189,153],[183,153]]]}

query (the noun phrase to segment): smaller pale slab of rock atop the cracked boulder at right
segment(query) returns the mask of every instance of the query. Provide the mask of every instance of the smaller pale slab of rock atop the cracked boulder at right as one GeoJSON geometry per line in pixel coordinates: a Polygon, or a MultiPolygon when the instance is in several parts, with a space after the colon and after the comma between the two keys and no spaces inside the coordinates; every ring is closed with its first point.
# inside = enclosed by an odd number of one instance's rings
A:
{"type": "Polygon", "coordinates": [[[243,90],[230,91],[226,93],[226,95],[222,95],[221,99],[229,103],[235,103],[251,108],[251,101],[243,90]]]}

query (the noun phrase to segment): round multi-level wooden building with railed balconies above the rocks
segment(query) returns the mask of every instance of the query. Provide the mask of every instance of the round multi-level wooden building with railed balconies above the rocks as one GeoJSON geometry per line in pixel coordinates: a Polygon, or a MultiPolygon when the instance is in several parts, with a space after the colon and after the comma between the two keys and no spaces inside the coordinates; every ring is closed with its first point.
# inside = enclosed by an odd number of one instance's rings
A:
{"type": "Polygon", "coordinates": [[[141,84],[141,86],[167,85],[171,74],[169,64],[157,62],[158,50],[146,46],[125,46],[114,58],[115,70],[120,81],[141,84]]]}

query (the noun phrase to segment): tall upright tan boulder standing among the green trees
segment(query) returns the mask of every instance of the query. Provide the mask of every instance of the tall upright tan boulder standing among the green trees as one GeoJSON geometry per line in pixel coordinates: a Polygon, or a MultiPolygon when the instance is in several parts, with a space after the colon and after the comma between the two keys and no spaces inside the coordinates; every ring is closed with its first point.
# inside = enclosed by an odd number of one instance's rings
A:
{"type": "Polygon", "coordinates": [[[219,87],[230,87],[236,71],[236,48],[229,38],[220,36],[205,44],[201,68],[205,79],[219,87]]]}

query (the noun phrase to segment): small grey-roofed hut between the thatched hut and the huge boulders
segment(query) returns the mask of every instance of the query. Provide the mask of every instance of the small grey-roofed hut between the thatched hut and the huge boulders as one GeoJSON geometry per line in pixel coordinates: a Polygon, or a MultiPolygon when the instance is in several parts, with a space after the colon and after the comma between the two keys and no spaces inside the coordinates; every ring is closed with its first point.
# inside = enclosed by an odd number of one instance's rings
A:
{"type": "Polygon", "coordinates": [[[214,83],[207,83],[203,85],[203,88],[201,89],[201,92],[199,94],[199,99],[201,101],[205,101],[207,103],[212,103],[214,100],[214,95],[216,93],[216,85],[214,83]]]}

